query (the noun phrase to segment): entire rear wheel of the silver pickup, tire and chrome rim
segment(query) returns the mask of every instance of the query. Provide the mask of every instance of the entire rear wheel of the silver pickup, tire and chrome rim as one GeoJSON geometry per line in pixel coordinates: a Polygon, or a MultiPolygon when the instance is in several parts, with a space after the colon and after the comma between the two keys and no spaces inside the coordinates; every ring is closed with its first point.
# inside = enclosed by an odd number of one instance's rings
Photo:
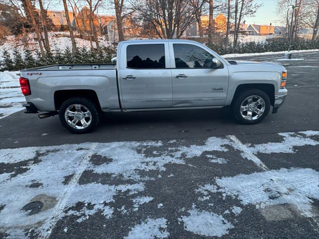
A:
{"type": "Polygon", "coordinates": [[[62,125],[72,133],[93,131],[100,119],[96,104],[86,98],[70,98],[59,109],[62,125]]]}

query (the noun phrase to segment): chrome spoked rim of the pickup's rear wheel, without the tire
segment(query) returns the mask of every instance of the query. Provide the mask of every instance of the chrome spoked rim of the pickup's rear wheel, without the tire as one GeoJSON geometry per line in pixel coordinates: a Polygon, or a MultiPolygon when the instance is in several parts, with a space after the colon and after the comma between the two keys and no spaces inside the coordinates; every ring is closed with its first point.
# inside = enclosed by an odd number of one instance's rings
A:
{"type": "Polygon", "coordinates": [[[88,108],[80,104],[69,106],[64,113],[65,121],[76,129],[87,128],[92,122],[92,114],[88,108]]]}

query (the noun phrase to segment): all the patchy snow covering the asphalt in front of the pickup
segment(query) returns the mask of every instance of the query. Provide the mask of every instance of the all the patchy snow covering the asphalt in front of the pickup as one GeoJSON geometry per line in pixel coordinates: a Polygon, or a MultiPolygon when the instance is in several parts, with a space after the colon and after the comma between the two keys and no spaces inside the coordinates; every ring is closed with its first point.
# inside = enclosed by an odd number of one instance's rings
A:
{"type": "MultiPolygon", "coordinates": [[[[313,139],[319,135],[319,131],[280,135],[283,136],[280,147],[282,153],[293,154],[296,147],[319,143],[313,139]]],[[[277,143],[247,144],[245,150],[251,150],[256,155],[261,150],[265,153],[278,153],[277,143]]],[[[196,170],[186,161],[190,158],[196,160],[201,155],[213,168],[216,162],[210,160],[218,159],[218,153],[234,149],[242,151],[235,144],[227,138],[210,137],[203,144],[188,146],[184,145],[183,140],[176,140],[174,144],[131,141],[0,149],[0,228],[9,234],[8,238],[24,238],[25,230],[34,230],[39,237],[45,237],[50,235],[55,223],[65,217],[72,216],[74,223],[82,223],[95,215],[101,215],[108,221],[116,217],[115,212],[130,217],[140,210],[141,213],[148,212],[145,207],[163,210],[165,206],[162,205],[167,202],[161,198],[159,204],[156,195],[146,192],[147,185],[150,186],[155,180],[166,180],[159,176],[172,166],[196,170]],[[209,152],[208,157],[205,156],[206,152],[209,152]],[[111,181],[80,180],[88,172],[93,175],[109,175],[107,177],[111,181]],[[146,176],[147,173],[152,176],[146,176]],[[28,216],[27,212],[20,210],[27,203],[38,200],[45,204],[39,213],[28,216]],[[52,217],[56,222],[52,223],[52,217]]],[[[230,161],[229,158],[224,159],[220,165],[227,165],[230,161]]],[[[206,183],[193,189],[195,196],[204,197],[195,197],[190,208],[177,208],[182,213],[174,220],[178,220],[184,230],[194,234],[221,237],[236,230],[236,222],[232,217],[239,217],[247,205],[264,208],[268,205],[292,204],[301,215],[314,216],[313,199],[319,199],[319,172],[310,168],[260,172],[256,163],[257,169],[259,172],[232,177],[208,177],[206,183]],[[222,202],[227,196],[239,199],[243,206],[238,207],[238,202],[228,201],[228,209],[225,211],[227,217],[215,212],[213,207],[200,206],[204,202],[209,205],[218,203],[212,201],[211,197],[217,194],[222,194],[222,202]]],[[[175,177],[175,174],[170,175],[175,177]]],[[[145,238],[169,236],[167,225],[172,218],[146,216],[146,219],[127,229],[126,238],[140,238],[141,235],[145,238]]]]}

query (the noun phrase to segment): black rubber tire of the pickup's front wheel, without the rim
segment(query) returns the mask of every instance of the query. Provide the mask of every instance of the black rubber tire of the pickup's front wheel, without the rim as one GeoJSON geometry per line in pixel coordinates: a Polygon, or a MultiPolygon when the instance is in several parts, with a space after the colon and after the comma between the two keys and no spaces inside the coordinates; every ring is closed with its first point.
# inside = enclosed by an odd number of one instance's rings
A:
{"type": "MultiPolygon", "coordinates": [[[[269,113],[269,110],[270,110],[270,99],[269,99],[269,96],[261,91],[261,90],[258,90],[258,89],[247,89],[245,91],[241,91],[239,92],[236,96],[235,96],[235,99],[233,101],[233,104],[232,104],[232,112],[235,116],[235,118],[237,119],[237,121],[239,123],[242,123],[242,124],[255,124],[255,123],[259,123],[260,121],[262,121],[263,119],[265,119],[265,117],[268,115],[269,113]],[[245,99],[247,99],[248,97],[250,96],[259,96],[261,97],[264,102],[265,102],[265,110],[264,110],[264,113],[257,119],[252,119],[252,120],[249,120],[249,119],[245,119],[241,113],[240,113],[240,106],[241,104],[243,103],[243,101],[245,99]]],[[[255,114],[255,113],[254,113],[255,114]]]]}

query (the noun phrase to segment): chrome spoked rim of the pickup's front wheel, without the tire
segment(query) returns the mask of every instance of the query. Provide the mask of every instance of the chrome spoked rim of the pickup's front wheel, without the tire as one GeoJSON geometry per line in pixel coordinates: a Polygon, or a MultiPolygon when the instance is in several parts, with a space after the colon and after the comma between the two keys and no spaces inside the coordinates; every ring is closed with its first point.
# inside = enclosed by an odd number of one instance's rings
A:
{"type": "Polygon", "coordinates": [[[266,103],[260,96],[249,96],[240,105],[240,115],[247,120],[259,119],[265,112],[266,103]]]}

